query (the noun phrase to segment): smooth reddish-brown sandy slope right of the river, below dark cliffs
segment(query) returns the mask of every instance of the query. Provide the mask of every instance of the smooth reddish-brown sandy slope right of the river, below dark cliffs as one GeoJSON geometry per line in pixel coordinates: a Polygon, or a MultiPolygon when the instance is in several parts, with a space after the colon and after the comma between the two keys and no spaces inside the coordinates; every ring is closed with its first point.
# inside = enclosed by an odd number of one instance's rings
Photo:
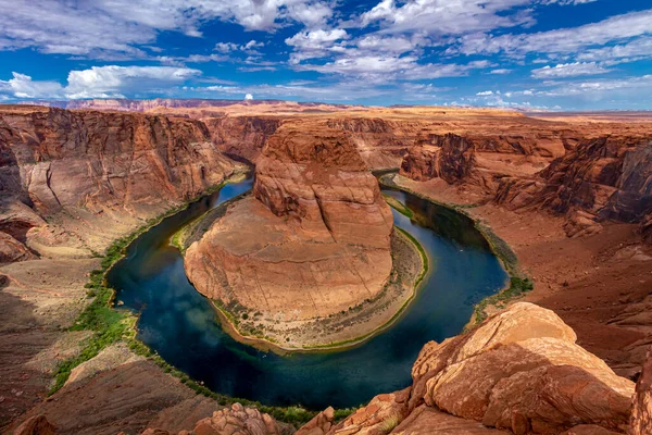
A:
{"type": "MultiPolygon", "coordinates": [[[[441,179],[400,184],[448,203],[481,199],[441,179]]],[[[619,375],[635,378],[652,343],[652,247],[637,225],[607,223],[601,233],[568,238],[564,220],[546,211],[512,212],[493,203],[469,208],[507,241],[535,289],[521,300],[555,311],[577,343],[619,375]]]]}

